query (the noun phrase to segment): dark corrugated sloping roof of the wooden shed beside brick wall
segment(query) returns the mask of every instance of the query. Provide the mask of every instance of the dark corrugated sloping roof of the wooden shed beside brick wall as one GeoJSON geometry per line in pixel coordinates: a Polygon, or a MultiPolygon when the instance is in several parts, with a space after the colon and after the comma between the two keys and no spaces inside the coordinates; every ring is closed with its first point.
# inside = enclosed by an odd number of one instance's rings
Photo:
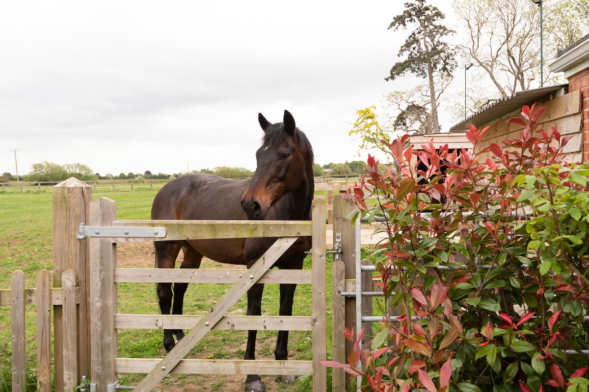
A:
{"type": "Polygon", "coordinates": [[[514,112],[514,110],[521,109],[524,105],[530,105],[544,96],[557,92],[564,86],[567,86],[567,84],[519,91],[514,95],[505,96],[496,102],[485,105],[481,110],[467,118],[464,122],[452,126],[450,132],[464,132],[470,128],[471,124],[479,128],[489,122],[501,119],[503,116],[514,112]]]}

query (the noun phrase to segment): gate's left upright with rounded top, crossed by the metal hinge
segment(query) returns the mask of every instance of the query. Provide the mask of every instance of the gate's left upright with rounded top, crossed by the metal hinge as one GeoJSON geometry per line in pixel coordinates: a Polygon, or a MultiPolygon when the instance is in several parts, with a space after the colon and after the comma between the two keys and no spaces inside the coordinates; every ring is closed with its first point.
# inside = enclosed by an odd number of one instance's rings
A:
{"type": "MultiPolygon", "coordinates": [[[[90,203],[90,226],[112,226],[117,219],[117,204],[107,197],[90,203]]],[[[114,269],[117,267],[117,244],[109,237],[89,237],[90,247],[90,311],[92,314],[91,374],[97,392],[107,391],[115,384],[114,359],[118,354],[117,331],[114,317],[117,313],[117,284],[114,269]]]]}

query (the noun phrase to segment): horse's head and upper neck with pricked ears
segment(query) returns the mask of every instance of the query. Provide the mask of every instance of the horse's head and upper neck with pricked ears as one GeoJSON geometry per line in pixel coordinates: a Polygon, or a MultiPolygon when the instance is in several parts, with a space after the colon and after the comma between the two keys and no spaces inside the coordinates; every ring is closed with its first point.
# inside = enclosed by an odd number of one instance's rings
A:
{"type": "MultiPolygon", "coordinates": [[[[256,152],[257,168],[241,199],[247,219],[266,219],[268,209],[290,192],[304,188],[313,192],[313,150],[305,134],[294,125],[293,116],[284,110],[284,122],[272,124],[258,115],[264,130],[262,146],[256,152]],[[307,183],[309,181],[311,184],[307,183]]],[[[304,210],[307,195],[292,205],[304,210]],[[301,207],[302,205],[302,207],[301,207]]],[[[302,219],[302,218],[300,218],[302,219]]]]}

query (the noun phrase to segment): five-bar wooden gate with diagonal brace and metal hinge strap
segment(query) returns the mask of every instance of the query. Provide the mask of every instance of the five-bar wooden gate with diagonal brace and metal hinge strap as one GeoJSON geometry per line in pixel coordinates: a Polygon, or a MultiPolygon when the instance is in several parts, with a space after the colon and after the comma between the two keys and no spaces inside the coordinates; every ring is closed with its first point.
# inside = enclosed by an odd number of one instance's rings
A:
{"type": "MultiPolygon", "coordinates": [[[[312,375],[313,390],[325,391],[326,368],[326,267],[325,202],[313,202],[312,222],[282,221],[178,221],[116,220],[116,204],[101,197],[90,203],[87,232],[90,246],[91,381],[97,392],[118,386],[117,373],[148,373],[136,387],[151,391],[168,373],[201,374],[296,374],[312,375]],[[135,230],[151,228],[159,237],[135,236],[135,230]],[[162,230],[164,229],[164,230],[162,230]],[[162,232],[165,236],[161,236],[162,232]],[[102,233],[101,233],[102,232],[102,233]],[[94,235],[104,235],[98,236],[94,235]],[[313,236],[312,270],[270,270],[296,237],[313,236]],[[193,282],[213,283],[213,274],[201,269],[117,269],[117,243],[129,241],[279,237],[251,269],[214,270],[214,282],[234,283],[229,292],[214,304],[206,316],[124,315],[117,313],[117,282],[193,282]],[[225,276],[221,282],[219,276],[225,276]],[[311,316],[231,316],[224,313],[254,283],[312,284],[311,316]],[[118,358],[117,329],[187,329],[186,337],[164,359],[118,358]],[[288,327],[284,327],[288,326],[288,327]],[[184,356],[207,333],[216,329],[276,329],[312,331],[312,361],[194,360],[184,356]]],[[[84,233],[80,233],[84,234],[84,233]]],[[[141,234],[144,235],[144,234],[141,234]]]]}

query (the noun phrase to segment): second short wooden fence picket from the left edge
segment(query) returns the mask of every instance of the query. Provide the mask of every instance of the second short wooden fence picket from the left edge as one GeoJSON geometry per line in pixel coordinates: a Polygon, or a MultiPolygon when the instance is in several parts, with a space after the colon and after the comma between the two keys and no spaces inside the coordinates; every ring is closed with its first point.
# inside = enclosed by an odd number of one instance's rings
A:
{"type": "Polygon", "coordinates": [[[51,391],[51,278],[37,273],[37,390],[51,391]]]}

